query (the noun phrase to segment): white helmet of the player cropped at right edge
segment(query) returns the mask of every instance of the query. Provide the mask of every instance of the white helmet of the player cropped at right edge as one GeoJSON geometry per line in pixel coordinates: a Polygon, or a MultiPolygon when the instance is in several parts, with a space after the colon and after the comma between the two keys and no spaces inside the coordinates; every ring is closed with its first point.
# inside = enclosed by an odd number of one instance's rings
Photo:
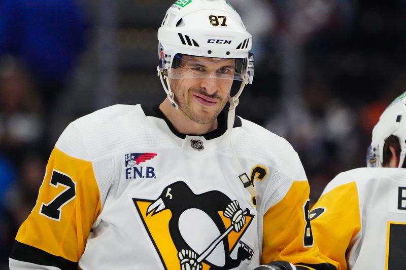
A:
{"type": "Polygon", "coordinates": [[[395,135],[399,138],[399,168],[406,155],[406,92],[398,96],[385,109],[372,132],[372,142],[366,154],[368,167],[382,167],[385,140],[395,135]]]}

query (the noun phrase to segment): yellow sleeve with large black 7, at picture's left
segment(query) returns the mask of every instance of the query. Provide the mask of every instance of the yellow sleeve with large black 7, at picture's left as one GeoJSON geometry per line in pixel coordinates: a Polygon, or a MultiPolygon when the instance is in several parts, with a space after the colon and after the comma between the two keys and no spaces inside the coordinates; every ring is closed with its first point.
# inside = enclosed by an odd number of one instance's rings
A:
{"type": "Polygon", "coordinates": [[[78,269],[100,211],[92,163],[54,148],[37,203],[15,238],[10,269],[78,269]]]}

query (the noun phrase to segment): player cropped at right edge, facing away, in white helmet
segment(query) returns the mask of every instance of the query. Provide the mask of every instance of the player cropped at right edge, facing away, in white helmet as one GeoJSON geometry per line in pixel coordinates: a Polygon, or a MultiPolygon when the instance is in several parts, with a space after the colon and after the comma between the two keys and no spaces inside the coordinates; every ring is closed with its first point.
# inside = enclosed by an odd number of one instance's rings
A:
{"type": "Polygon", "coordinates": [[[339,269],[406,267],[406,92],[382,113],[367,165],[337,175],[312,209],[321,252],[339,269]],[[379,167],[379,168],[376,168],[379,167]]]}

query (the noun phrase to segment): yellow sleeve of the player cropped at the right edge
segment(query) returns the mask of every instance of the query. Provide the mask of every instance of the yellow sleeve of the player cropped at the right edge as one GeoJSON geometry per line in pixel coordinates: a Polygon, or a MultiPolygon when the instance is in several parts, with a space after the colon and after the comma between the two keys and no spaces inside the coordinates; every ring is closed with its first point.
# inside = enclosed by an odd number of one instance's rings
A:
{"type": "Polygon", "coordinates": [[[320,251],[347,269],[346,251],[361,229],[356,182],[327,185],[311,211],[312,228],[320,251]]]}

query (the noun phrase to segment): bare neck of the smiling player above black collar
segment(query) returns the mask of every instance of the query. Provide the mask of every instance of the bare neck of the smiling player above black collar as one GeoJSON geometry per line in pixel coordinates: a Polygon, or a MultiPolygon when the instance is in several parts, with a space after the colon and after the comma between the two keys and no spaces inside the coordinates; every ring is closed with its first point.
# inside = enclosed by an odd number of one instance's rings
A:
{"type": "Polygon", "coordinates": [[[175,109],[167,98],[159,105],[159,109],[179,133],[202,135],[217,129],[217,119],[209,124],[196,123],[181,109],[175,109]]]}

